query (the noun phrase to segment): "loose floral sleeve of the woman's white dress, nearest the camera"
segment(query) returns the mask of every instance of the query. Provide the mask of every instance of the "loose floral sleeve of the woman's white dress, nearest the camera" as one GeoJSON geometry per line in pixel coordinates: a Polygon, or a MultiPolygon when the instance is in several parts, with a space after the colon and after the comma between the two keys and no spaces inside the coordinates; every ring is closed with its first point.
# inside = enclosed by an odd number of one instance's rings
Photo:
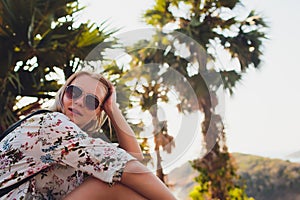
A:
{"type": "Polygon", "coordinates": [[[120,181],[126,163],[133,156],[115,144],[89,137],[65,115],[47,113],[41,123],[40,161],[71,166],[102,181],[120,181]]]}

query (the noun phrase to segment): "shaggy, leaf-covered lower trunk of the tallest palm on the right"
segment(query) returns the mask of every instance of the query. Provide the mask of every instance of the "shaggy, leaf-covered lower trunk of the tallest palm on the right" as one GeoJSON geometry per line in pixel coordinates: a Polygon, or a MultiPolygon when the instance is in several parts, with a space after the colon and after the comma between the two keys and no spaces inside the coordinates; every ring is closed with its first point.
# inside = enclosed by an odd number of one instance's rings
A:
{"type": "Polygon", "coordinates": [[[210,103],[205,105],[202,107],[202,133],[207,153],[203,158],[194,160],[192,166],[200,172],[197,182],[207,187],[205,199],[228,199],[228,192],[235,187],[236,169],[226,146],[222,118],[214,113],[210,103]]]}

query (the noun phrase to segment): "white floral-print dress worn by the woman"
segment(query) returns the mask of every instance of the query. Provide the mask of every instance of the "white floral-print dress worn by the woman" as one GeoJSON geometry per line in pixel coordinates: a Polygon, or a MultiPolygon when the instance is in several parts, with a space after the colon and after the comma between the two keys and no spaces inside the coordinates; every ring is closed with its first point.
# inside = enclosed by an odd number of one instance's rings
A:
{"type": "Polygon", "coordinates": [[[62,113],[34,115],[0,143],[0,187],[40,173],[1,199],[61,199],[89,175],[112,184],[133,159],[62,113]]]}

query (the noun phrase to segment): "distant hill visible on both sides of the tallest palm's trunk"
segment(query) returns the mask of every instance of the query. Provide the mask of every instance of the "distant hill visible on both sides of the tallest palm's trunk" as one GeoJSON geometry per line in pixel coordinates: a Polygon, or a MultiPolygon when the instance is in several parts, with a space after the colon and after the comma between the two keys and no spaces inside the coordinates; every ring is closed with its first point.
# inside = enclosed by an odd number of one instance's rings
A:
{"type": "MultiPolygon", "coordinates": [[[[300,163],[260,156],[233,153],[238,173],[246,181],[246,193],[256,200],[300,200],[300,163]]],[[[197,176],[189,163],[168,175],[173,191],[180,200],[189,199],[197,176]]]]}

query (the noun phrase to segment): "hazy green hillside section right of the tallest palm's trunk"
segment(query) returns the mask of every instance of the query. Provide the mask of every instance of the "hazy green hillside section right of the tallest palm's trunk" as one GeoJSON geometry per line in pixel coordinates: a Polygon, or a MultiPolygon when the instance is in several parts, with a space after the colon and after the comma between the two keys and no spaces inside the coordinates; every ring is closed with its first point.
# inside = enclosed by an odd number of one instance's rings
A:
{"type": "Polygon", "coordinates": [[[300,199],[300,163],[234,153],[246,192],[256,199],[300,199]]]}

